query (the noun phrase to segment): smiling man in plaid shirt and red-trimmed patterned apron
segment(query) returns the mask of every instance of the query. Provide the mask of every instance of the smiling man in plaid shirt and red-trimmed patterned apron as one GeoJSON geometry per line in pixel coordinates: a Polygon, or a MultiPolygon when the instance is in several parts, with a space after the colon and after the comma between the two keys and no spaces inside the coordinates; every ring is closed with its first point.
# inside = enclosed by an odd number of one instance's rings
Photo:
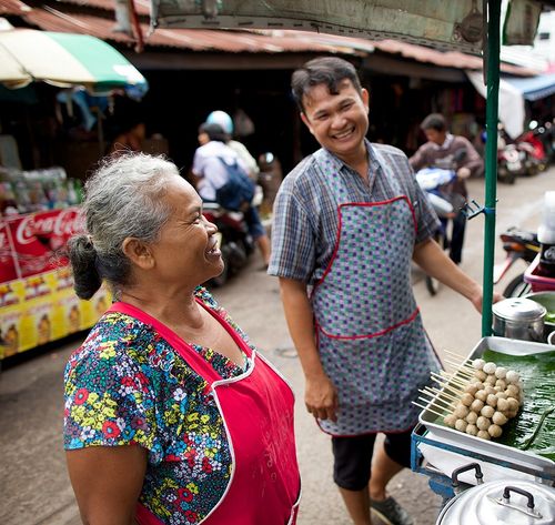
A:
{"type": "Polygon", "coordinates": [[[332,435],[334,481],[355,524],[370,506],[412,524],[386,494],[410,464],[411,401],[438,368],[411,285],[411,261],[481,307],[482,289],[432,239],[437,218],[405,154],[371,144],[369,92],[355,69],[321,58],[295,71],[301,119],[322,149],[283,181],[269,273],[280,277],[305,375],[305,405],[332,435]],[[376,451],[375,436],[386,437],[376,451]]]}

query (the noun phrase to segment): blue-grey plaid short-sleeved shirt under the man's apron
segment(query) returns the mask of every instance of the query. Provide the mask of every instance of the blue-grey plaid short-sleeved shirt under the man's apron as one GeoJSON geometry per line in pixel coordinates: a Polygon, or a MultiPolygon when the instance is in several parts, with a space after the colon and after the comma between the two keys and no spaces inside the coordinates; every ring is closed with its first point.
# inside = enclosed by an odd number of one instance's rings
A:
{"type": "MultiPolygon", "coordinates": [[[[417,185],[406,155],[396,148],[367,141],[366,150],[369,184],[327,150],[307,157],[284,179],[274,203],[269,274],[310,285],[317,282],[332,259],[337,240],[337,206],[346,202],[375,203],[404,194],[414,208],[415,242],[434,234],[440,225],[437,215],[417,185]],[[382,165],[382,161],[386,165],[382,165]],[[339,172],[344,182],[341,202],[327,191],[325,180],[331,170],[339,172]]],[[[364,234],[364,225],[361,225],[361,234],[364,234]]],[[[395,239],[390,242],[394,243],[395,239]]]]}

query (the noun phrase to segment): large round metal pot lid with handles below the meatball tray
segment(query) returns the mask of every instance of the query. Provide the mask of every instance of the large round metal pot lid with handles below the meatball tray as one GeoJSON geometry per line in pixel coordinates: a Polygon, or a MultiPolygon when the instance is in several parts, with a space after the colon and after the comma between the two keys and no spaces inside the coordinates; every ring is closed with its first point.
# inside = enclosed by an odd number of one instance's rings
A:
{"type": "Polygon", "coordinates": [[[455,497],[437,517],[436,525],[553,525],[555,488],[524,479],[482,483],[477,463],[452,475],[455,497]],[[458,475],[475,468],[477,485],[460,492],[458,475]]]}

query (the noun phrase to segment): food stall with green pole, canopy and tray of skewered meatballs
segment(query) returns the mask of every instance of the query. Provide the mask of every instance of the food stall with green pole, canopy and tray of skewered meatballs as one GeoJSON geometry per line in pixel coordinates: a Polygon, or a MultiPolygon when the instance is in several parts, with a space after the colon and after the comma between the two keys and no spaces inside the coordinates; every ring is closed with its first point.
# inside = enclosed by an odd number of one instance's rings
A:
{"type": "MultiPolygon", "coordinates": [[[[503,18],[504,43],[532,44],[544,4],[554,6],[554,2],[505,2],[507,9],[503,18]]],[[[552,488],[555,484],[555,418],[551,417],[555,412],[555,350],[545,344],[546,309],[539,314],[541,342],[518,341],[507,334],[491,336],[501,8],[501,0],[152,1],[154,27],[305,29],[362,36],[374,40],[396,38],[442,49],[482,53],[484,57],[484,83],[487,87],[486,129],[487,135],[492,138],[486,144],[486,196],[485,203],[473,202],[467,209],[471,219],[483,216],[485,220],[483,339],[471,354],[455,355],[452,360],[454,372],[445,376],[440,374],[436,377],[437,384],[423,393],[421,425],[413,434],[413,470],[428,475],[432,488],[450,499],[438,517],[437,523],[442,525],[555,523],[555,491],[552,488]],[[481,377],[483,375],[487,385],[475,380],[474,372],[471,372],[474,364],[482,361],[481,364],[487,364],[487,368],[492,371],[486,373],[480,368],[481,377]],[[506,372],[508,367],[511,374],[506,372]],[[498,375],[495,374],[497,370],[498,375]],[[513,382],[515,384],[511,385],[513,382]],[[473,390],[472,395],[466,391],[467,387],[473,390]],[[475,400],[474,395],[478,395],[478,392],[484,401],[475,400]],[[498,400],[503,401],[497,405],[498,400]],[[475,417],[475,421],[471,423],[466,417],[471,414],[470,406],[475,401],[478,402],[475,403],[477,412],[472,411],[471,420],[475,417]],[[485,412],[482,413],[484,408],[485,412]],[[456,410],[458,413],[452,414],[456,410]],[[476,424],[478,421],[480,426],[476,424]],[[505,424],[504,432],[502,425],[505,424]],[[423,461],[426,448],[427,457],[423,461]],[[458,474],[452,479],[453,468],[468,463],[485,465],[488,475],[501,468],[501,473],[495,473],[501,482],[498,485],[488,485],[487,491],[482,492],[472,504],[460,505],[461,502],[453,497],[455,491],[467,488],[466,494],[474,494],[473,489],[468,488],[470,484],[481,483],[483,477],[482,470],[476,470],[476,481],[471,476],[462,483],[458,474]],[[523,476],[525,484],[521,484],[523,476]],[[507,483],[507,479],[511,483],[507,483]]],[[[542,286],[542,290],[555,291],[555,276],[529,275],[528,279],[536,286],[542,286]]],[[[531,323],[527,317],[529,313],[526,310],[519,311],[522,319],[517,316],[517,320],[531,323]]],[[[522,333],[528,334],[527,326],[522,333]]]]}

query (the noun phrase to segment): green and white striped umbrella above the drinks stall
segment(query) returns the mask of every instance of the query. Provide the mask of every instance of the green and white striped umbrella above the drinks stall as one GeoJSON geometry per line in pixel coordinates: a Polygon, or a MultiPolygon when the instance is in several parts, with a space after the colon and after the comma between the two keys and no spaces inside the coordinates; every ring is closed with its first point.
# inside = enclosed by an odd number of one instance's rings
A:
{"type": "Polygon", "coordinates": [[[0,31],[0,82],[13,88],[31,81],[82,85],[93,94],[121,89],[134,98],[148,90],[134,65],[94,37],[32,29],[0,31]]]}

